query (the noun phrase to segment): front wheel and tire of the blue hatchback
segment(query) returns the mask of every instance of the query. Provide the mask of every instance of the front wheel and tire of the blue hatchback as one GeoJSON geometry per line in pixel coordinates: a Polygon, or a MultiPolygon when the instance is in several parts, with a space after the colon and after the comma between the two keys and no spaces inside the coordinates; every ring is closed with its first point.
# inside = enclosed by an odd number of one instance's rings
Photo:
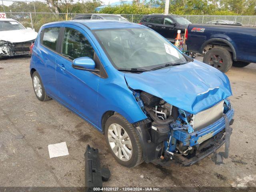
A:
{"type": "Polygon", "coordinates": [[[132,124],[122,115],[114,114],[108,118],[105,124],[105,138],[112,156],[119,164],[132,168],[143,162],[139,137],[132,124]]]}

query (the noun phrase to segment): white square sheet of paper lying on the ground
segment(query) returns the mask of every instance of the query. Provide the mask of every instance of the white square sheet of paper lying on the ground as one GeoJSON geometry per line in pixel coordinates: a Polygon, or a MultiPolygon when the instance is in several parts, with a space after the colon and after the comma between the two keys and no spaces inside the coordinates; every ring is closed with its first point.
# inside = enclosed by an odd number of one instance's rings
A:
{"type": "Polygon", "coordinates": [[[50,158],[68,155],[66,142],[48,145],[50,158]]]}

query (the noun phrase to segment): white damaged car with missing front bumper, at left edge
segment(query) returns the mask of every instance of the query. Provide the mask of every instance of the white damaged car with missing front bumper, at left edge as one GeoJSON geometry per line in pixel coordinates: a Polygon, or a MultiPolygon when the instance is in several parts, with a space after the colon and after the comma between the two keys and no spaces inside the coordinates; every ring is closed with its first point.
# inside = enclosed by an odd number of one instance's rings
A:
{"type": "Polygon", "coordinates": [[[30,54],[37,37],[32,28],[25,28],[14,19],[0,19],[0,58],[30,54]]]}

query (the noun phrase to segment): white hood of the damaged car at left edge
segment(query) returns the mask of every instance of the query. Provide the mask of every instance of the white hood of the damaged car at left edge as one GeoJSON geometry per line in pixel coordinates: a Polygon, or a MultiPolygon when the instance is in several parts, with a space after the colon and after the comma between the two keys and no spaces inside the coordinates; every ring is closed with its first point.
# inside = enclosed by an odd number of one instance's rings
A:
{"type": "Polygon", "coordinates": [[[12,43],[26,42],[36,39],[37,32],[34,29],[21,29],[12,31],[0,31],[0,40],[12,43]]]}

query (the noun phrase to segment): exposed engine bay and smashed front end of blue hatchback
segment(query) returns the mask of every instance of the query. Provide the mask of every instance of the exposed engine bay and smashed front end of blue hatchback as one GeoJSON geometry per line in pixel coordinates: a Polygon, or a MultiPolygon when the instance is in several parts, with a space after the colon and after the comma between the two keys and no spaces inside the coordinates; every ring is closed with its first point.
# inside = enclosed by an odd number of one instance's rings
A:
{"type": "Polygon", "coordinates": [[[191,114],[144,91],[134,92],[134,96],[151,122],[148,142],[156,144],[158,161],[175,159],[186,162],[183,164],[188,166],[194,164],[194,159],[198,159],[200,154],[214,148],[216,143],[220,144],[219,147],[224,143],[223,122],[222,125],[216,122],[223,118],[223,114],[231,111],[228,100],[198,114],[191,114]],[[209,131],[208,127],[212,125],[216,128],[209,131]]]}

